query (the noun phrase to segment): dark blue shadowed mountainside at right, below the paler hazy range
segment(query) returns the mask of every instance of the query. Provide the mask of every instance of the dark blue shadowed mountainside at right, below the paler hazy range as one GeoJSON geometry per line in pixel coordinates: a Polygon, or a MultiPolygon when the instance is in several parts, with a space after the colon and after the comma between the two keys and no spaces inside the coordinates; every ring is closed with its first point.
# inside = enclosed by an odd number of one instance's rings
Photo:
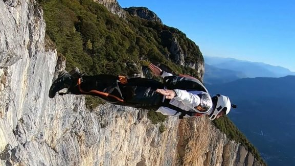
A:
{"type": "Polygon", "coordinates": [[[243,78],[207,88],[238,105],[229,117],[269,166],[295,165],[295,76],[243,78]]]}

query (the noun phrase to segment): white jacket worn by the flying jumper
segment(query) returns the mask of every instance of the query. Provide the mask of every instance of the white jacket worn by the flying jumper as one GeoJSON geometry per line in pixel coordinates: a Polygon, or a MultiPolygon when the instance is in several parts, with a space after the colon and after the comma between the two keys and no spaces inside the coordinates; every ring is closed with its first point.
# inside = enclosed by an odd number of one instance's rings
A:
{"type": "MultiPolygon", "coordinates": [[[[166,73],[164,72],[162,74],[162,77],[167,77],[167,76],[172,76],[172,74],[170,73],[166,73]]],[[[195,108],[196,106],[198,106],[201,102],[200,98],[197,96],[197,94],[200,93],[206,93],[203,91],[197,91],[197,90],[192,90],[192,91],[187,91],[187,90],[180,90],[180,89],[173,89],[177,96],[174,97],[173,99],[171,99],[171,101],[169,102],[169,104],[174,105],[180,109],[183,109],[185,111],[190,111],[190,112],[195,112],[195,108]]],[[[206,93],[208,94],[208,93],[206,93]]],[[[209,94],[208,94],[209,95],[209,94]]],[[[210,97],[210,95],[209,95],[210,97]]],[[[165,100],[165,96],[163,98],[163,101],[165,100]]],[[[164,115],[169,115],[169,116],[179,116],[181,114],[181,112],[178,112],[176,110],[173,110],[171,108],[168,107],[160,107],[159,109],[156,110],[156,112],[160,112],[164,115]]],[[[211,102],[211,107],[209,109],[209,112],[205,113],[205,114],[210,114],[212,112],[212,102],[211,102]]],[[[189,115],[186,115],[184,117],[191,117],[189,115]]]]}

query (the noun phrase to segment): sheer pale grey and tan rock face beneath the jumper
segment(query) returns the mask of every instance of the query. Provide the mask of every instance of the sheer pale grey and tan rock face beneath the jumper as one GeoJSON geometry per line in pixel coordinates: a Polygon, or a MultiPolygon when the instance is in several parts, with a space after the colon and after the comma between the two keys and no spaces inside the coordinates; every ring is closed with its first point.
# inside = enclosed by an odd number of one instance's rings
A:
{"type": "Polygon", "coordinates": [[[49,99],[65,61],[45,38],[42,10],[0,1],[0,22],[0,165],[258,165],[205,118],[171,117],[161,133],[144,110],[49,99]]]}

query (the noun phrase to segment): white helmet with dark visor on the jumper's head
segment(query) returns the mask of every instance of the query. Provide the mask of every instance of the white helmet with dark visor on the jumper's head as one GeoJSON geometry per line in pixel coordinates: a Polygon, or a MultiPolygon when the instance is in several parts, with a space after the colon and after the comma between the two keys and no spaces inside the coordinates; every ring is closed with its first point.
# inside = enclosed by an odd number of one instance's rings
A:
{"type": "Polygon", "coordinates": [[[229,97],[220,95],[220,94],[216,94],[216,96],[214,96],[212,98],[212,102],[213,102],[213,112],[209,115],[209,119],[211,121],[215,120],[215,118],[217,117],[217,115],[224,111],[225,114],[228,114],[231,110],[231,101],[229,99],[229,97]]]}

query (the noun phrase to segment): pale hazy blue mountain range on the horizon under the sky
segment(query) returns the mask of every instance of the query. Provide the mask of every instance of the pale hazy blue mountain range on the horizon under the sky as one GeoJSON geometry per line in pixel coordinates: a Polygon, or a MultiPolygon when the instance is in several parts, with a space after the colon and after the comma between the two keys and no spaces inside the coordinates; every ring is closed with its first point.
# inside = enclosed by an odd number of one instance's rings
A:
{"type": "Polygon", "coordinates": [[[239,78],[284,77],[295,75],[289,69],[261,62],[243,61],[234,58],[205,58],[204,82],[208,84],[230,82],[239,78]]]}

